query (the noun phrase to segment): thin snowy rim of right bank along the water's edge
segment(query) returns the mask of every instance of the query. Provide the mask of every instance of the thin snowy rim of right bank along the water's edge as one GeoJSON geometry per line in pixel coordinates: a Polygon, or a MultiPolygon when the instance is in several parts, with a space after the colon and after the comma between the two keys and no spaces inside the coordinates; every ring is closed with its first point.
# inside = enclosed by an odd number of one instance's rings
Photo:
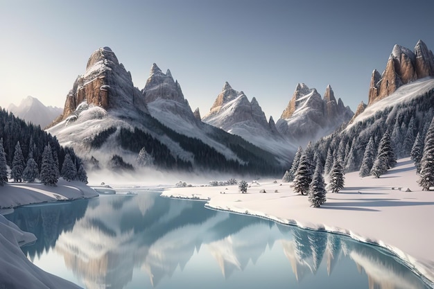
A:
{"type": "Polygon", "coordinates": [[[390,253],[392,253],[398,261],[403,263],[407,268],[409,268],[413,273],[415,273],[418,277],[420,277],[426,285],[430,286],[431,288],[434,288],[434,272],[433,272],[433,265],[428,263],[423,263],[422,261],[418,261],[417,259],[413,258],[412,256],[409,256],[405,252],[403,252],[398,247],[394,247],[392,245],[388,245],[387,243],[384,243],[381,240],[375,240],[374,238],[369,238],[367,236],[362,236],[360,234],[356,234],[354,231],[351,231],[349,229],[343,229],[340,227],[331,227],[327,225],[321,225],[321,224],[313,224],[313,223],[302,223],[295,219],[286,219],[286,218],[279,218],[277,216],[272,216],[267,213],[263,213],[261,211],[254,211],[252,209],[246,209],[246,208],[238,208],[238,207],[232,207],[232,206],[220,206],[220,205],[213,205],[209,204],[209,200],[211,198],[205,196],[205,195],[198,195],[193,194],[193,198],[189,195],[183,195],[183,194],[171,194],[171,195],[165,195],[164,193],[160,195],[163,198],[174,198],[174,199],[182,199],[182,200],[199,200],[199,201],[207,201],[205,204],[205,208],[212,209],[216,211],[225,211],[228,213],[238,213],[240,215],[245,216],[252,216],[257,218],[263,218],[264,220],[271,220],[273,222],[277,222],[281,225],[289,225],[289,226],[297,226],[301,229],[308,229],[312,231],[325,231],[331,234],[338,234],[341,236],[348,236],[349,238],[352,238],[353,240],[356,240],[361,243],[366,243],[369,245],[375,245],[378,247],[381,247],[383,249],[387,249],[390,253]]]}

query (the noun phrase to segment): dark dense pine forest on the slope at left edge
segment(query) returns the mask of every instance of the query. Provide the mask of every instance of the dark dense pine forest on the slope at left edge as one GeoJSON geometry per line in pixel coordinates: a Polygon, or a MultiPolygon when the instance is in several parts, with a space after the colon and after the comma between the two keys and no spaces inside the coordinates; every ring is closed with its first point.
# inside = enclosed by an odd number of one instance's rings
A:
{"type": "Polygon", "coordinates": [[[10,178],[15,182],[33,182],[38,178],[44,184],[55,185],[62,176],[60,171],[65,157],[77,172],[74,180],[87,182],[83,162],[73,149],[60,146],[58,140],[39,125],[26,123],[0,110],[0,140],[1,184],[8,182],[6,166],[9,166],[10,178]]]}

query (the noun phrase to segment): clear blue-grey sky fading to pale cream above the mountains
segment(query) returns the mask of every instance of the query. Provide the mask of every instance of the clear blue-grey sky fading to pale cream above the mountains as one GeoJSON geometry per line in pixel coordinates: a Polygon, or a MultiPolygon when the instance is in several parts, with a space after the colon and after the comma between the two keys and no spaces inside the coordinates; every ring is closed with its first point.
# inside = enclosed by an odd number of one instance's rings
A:
{"type": "Polygon", "coordinates": [[[171,69],[194,110],[225,81],[279,119],[298,82],[352,110],[394,44],[434,50],[434,1],[0,0],[0,106],[28,95],[63,107],[93,51],[110,46],[142,89],[171,69]]]}

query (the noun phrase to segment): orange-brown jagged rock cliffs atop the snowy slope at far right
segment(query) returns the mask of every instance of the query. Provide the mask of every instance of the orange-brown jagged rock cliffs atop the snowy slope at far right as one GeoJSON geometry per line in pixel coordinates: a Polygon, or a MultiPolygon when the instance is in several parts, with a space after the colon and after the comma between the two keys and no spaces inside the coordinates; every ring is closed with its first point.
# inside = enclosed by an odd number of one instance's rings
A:
{"type": "Polygon", "coordinates": [[[376,70],[372,73],[367,105],[389,96],[401,85],[426,76],[434,76],[434,55],[426,44],[419,40],[414,51],[395,45],[381,76],[376,70]]]}

